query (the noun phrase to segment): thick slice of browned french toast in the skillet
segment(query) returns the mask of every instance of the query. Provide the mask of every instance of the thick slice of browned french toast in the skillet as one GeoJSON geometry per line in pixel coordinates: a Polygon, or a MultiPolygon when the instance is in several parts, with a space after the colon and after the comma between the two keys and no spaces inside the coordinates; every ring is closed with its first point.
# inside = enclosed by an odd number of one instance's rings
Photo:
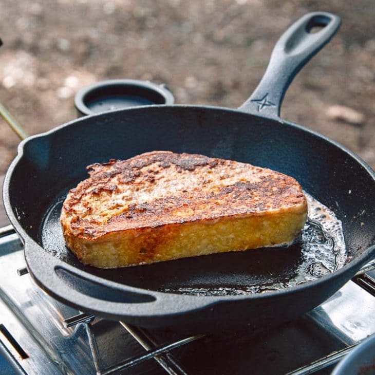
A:
{"type": "Polygon", "coordinates": [[[295,179],[251,164],[154,151],[87,168],[60,219],[66,246],[95,267],[282,245],[307,218],[295,179]]]}

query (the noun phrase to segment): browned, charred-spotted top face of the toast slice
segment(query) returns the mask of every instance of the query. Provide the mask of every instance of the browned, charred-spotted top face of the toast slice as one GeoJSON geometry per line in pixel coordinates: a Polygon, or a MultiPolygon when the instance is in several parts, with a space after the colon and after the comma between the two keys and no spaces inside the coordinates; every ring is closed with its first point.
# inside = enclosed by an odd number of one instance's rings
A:
{"type": "Polygon", "coordinates": [[[64,202],[64,236],[93,241],[118,231],[307,207],[293,178],[231,160],[155,151],[87,168],[90,177],[64,202]]]}

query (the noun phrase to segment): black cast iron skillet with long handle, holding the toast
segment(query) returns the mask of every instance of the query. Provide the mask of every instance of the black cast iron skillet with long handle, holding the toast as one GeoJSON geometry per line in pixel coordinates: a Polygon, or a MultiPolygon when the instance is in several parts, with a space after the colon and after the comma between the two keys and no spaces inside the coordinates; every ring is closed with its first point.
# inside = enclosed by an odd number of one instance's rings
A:
{"type": "Polygon", "coordinates": [[[4,203],[35,282],[89,313],[197,331],[285,321],[336,292],[374,255],[374,172],[343,146],[280,119],[279,111],[292,78],[339,25],[339,17],[323,12],[293,24],[277,42],[259,86],[238,109],[129,108],[81,118],[21,142],[5,177],[4,203]],[[317,25],[323,28],[310,33],[317,25]],[[283,281],[293,277],[298,251],[252,250],[114,270],[83,266],[63,245],[62,200],[86,178],[86,165],[152,150],[249,162],[295,177],[342,220],[350,262],[304,285],[236,296],[163,291],[283,281]]]}

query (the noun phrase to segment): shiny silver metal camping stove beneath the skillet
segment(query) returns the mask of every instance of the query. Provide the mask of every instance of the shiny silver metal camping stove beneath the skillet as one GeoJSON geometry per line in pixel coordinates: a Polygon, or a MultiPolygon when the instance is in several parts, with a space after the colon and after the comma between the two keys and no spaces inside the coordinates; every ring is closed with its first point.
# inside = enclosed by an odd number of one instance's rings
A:
{"type": "Polygon", "coordinates": [[[25,266],[13,228],[0,229],[0,374],[326,374],[375,333],[375,261],[292,322],[190,336],[63,305],[25,266]]]}

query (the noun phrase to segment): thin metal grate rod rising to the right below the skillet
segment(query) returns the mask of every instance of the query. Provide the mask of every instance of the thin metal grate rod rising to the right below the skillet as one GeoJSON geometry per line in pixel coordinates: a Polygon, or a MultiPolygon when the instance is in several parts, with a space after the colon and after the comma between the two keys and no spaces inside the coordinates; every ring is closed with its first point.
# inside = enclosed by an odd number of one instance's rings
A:
{"type": "Polygon", "coordinates": [[[123,362],[118,363],[115,366],[111,366],[111,367],[108,367],[105,370],[98,371],[98,374],[99,375],[108,375],[108,374],[113,373],[115,371],[123,370],[125,368],[129,368],[129,367],[138,365],[138,364],[140,364],[144,361],[148,361],[149,359],[154,358],[155,355],[165,353],[165,352],[170,351],[172,349],[178,348],[179,346],[182,346],[184,344],[188,344],[192,341],[201,339],[202,337],[204,337],[203,334],[197,334],[197,335],[194,335],[194,336],[191,336],[191,337],[186,337],[186,339],[176,341],[172,344],[166,344],[166,345],[156,347],[155,349],[149,350],[146,354],[141,355],[140,357],[130,358],[128,360],[125,360],[123,362]]]}

